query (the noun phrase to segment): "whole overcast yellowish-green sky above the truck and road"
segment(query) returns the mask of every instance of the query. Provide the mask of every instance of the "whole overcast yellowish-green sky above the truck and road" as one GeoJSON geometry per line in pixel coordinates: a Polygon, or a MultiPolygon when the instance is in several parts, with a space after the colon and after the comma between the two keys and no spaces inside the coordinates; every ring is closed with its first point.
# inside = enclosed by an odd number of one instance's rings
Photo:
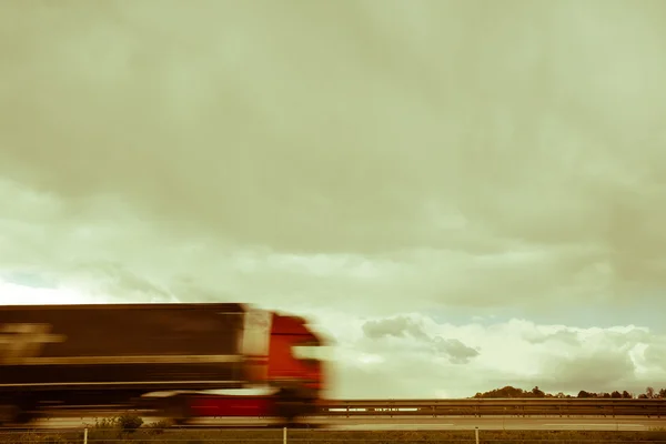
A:
{"type": "Polygon", "coordinates": [[[666,387],[663,1],[1,8],[0,303],[302,314],[333,397],[666,387]]]}

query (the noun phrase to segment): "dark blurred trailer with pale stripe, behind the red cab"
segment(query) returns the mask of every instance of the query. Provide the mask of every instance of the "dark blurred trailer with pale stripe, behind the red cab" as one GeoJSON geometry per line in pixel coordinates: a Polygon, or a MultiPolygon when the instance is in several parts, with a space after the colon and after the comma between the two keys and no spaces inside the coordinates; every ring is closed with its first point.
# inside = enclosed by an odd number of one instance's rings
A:
{"type": "Polygon", "coordinates": [[[245,312],[231,303],[1,306],[0,410],[243,386],[245,312]]]}

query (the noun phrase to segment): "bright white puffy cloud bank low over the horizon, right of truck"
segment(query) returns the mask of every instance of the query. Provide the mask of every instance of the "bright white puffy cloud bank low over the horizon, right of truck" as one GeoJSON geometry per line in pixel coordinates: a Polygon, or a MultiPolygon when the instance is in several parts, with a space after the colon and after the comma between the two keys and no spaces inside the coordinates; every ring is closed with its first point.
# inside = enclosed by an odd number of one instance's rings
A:
{"type": "MultiPolygon", "coordinates": [[[[404,319],[366,322],[360,330],[365,333],[367,325],[372,325],[373,334],[377,326],[385,327],[382,332],[402,332],[404,319]]],[[[666,384],[663,373],[650,372],[654,364],[643,357],[643,350],[658,347],[664,341],[663,335],[648,329],[633,325],[582,329],[524,320],[453,325],[426,315],[411,319],[411,325],[421,325],[423,335],[384,334],[372,341],[350,337],[340,344],[339,381],[345,383],[340,382],[339,389],[345,396],[354,397],[359,392],[357,396],[363,397],[361,393],[366,393],[363,385],[351,381],[370,375],[377,381],[380,376],[395,381],[394,389],[381,387],[395,397],[428,397],[435,392],[441,396],[472,396],[505,385],[526,390],[537,385],[574,395],[581,390],[643,393],[649,384],[666,384]],[[444,350],[447,359],[442,359],[435,349],[423,347],[423,336],[450,337],[436,342],[447,345],[444,350]],[[534,341],[534,337],[547,340],[534,341]],[[418,377],[412,377],[416,374],[418,377]]],[[[350,329],[359,329],[354,325],[350,324],[350,329]]]]}

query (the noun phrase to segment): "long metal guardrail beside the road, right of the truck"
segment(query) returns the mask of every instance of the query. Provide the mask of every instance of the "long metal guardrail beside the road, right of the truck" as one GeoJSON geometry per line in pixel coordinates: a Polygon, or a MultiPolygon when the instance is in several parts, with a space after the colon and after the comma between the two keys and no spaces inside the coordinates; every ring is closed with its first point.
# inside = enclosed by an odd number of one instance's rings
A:
{"type": "Polygon", "coordinates": [[[626,398],[470,398],[470,400],[331,400],[319,404],[330,416],[442,415],[603,415],[666,416],[666,400],[626,398]]]}

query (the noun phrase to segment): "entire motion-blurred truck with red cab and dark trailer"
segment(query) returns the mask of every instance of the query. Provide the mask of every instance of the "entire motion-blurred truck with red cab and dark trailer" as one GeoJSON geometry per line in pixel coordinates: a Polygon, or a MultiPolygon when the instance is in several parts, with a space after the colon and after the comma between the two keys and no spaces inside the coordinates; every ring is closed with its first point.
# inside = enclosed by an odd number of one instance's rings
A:
{"type": "Polygon", "coordinates": [[[243,303],[0,305],[0,424],[94,406],[292,425],[317,410],[325,346],[304,317],[243,303]]]}

